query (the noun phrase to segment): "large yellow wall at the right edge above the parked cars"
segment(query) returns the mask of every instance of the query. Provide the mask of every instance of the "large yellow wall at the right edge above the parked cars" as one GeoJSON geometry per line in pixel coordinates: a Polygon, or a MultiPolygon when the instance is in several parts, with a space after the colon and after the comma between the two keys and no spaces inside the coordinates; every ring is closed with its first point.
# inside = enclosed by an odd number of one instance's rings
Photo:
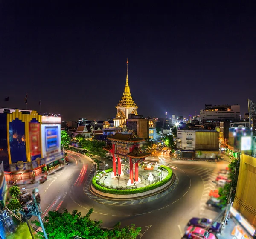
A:
{"type": "Polygon", "coordinates": [[[233,207],[256,227],[256,158],[241,155],[233,207]]]}

